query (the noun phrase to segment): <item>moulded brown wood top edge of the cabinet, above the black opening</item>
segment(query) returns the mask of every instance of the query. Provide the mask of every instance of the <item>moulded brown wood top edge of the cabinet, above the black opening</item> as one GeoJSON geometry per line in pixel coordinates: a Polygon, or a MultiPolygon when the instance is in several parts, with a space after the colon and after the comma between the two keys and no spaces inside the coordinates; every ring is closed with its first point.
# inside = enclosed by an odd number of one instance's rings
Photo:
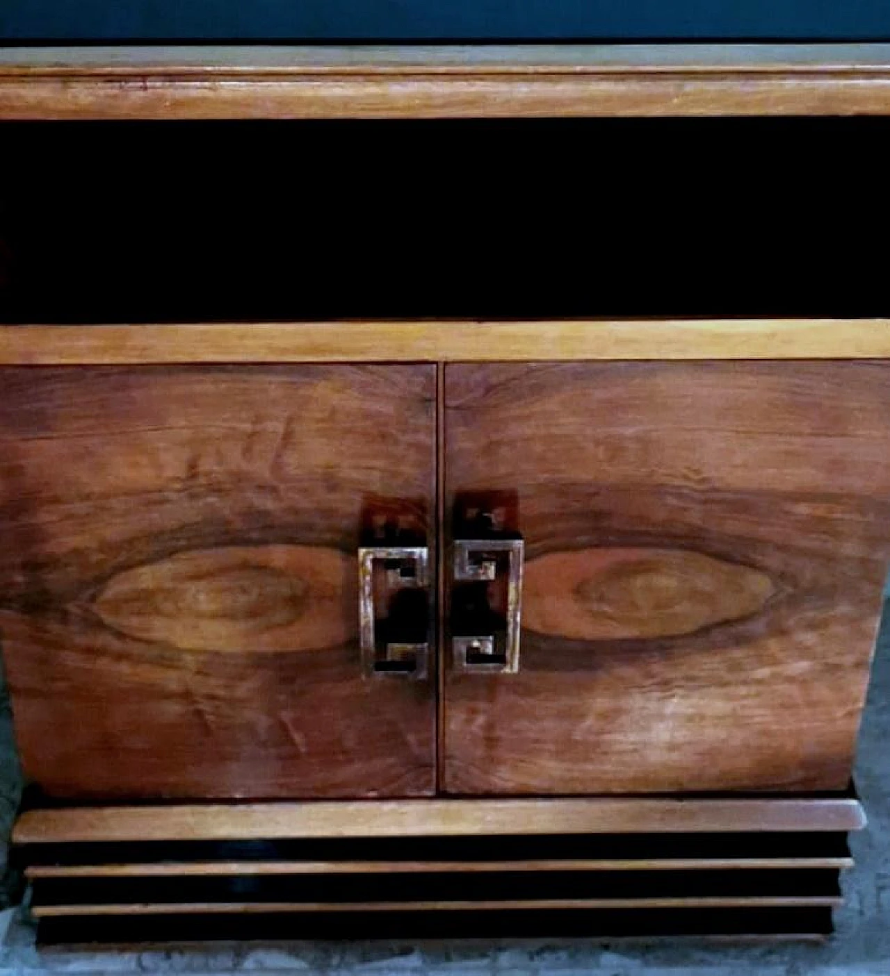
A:
{"type": "Polygon", "coordinates": [[[886,44],[0,51],[2,119],[888,112],[886,44]]]}

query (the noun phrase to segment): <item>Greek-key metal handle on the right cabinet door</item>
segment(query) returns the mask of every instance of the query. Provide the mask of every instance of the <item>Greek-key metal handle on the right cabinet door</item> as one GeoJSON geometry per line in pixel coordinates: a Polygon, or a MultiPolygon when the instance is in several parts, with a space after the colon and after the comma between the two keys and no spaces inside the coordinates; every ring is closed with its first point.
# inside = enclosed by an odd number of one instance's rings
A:
{"type": "Polygon", "coordinates": [[[458,671],[519,671],[523,557],[521,538],[455,540],[454,580],[465,585],[455,588],[451,605],[451,647],[458,671]],[[506,584],[505,598],[503,590],[499,599],[494,593],[492,606],[489,588],[497,582],[506,584]]]}

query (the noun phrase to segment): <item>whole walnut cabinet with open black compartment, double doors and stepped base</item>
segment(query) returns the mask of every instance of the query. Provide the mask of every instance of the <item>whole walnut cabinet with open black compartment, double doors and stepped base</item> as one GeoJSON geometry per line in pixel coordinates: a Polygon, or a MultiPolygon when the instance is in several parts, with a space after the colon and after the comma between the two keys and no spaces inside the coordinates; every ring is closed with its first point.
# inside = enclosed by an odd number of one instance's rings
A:
{"type": "Polygon", "coordinates": [[[829,931],[886,114],[881,45],[3,52],[41,936],[829,931]]]}

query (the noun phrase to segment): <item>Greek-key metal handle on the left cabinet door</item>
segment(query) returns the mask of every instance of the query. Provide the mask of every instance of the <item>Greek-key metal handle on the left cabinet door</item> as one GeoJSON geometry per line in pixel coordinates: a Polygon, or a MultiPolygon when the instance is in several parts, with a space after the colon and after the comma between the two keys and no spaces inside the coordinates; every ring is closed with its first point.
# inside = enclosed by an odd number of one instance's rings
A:
{"type": "Polygon", "coordinates": [[[359,549],[359,642],[366,675],[427,677],[429,561],[426,547],[359,549]],[[379,614],[384,607],[386,613],[379,614]]]}

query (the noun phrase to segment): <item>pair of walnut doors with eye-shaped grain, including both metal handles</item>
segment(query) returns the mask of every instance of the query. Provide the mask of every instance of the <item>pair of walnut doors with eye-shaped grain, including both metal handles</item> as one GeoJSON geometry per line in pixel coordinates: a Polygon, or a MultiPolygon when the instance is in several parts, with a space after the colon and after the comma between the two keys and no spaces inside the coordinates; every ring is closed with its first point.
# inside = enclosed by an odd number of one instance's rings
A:
{"type": "Polygon", "coordinates": [[[0,382],[4,654],[48,797],[849,782],[886,363],[0,382]]]}

